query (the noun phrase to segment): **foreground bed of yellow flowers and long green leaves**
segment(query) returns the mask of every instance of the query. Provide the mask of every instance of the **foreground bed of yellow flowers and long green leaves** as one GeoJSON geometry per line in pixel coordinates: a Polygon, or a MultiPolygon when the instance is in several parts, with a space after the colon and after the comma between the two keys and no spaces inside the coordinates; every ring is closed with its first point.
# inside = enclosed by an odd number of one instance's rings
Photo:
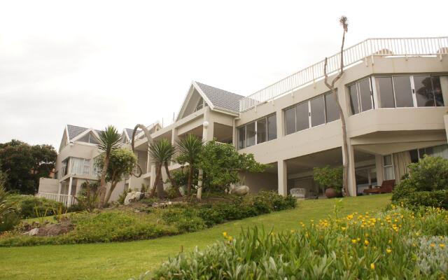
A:
{"type": "Polygon", "coordinates": [[[279,233],[223,232],[224,241],[169,258],[141,279],[444,279],[448,212],[393,208],[279,233]]]}

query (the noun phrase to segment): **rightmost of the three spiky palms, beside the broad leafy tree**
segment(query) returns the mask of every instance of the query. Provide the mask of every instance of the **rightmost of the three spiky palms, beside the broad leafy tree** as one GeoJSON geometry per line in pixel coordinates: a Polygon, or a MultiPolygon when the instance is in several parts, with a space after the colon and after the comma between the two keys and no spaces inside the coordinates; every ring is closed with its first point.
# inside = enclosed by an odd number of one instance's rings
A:
{"type": "Polygon", "coordinates": [[[204,141],[197,138],[194,134],[188,134],[185,139],[178,142],[179,151],[181,155],[177,158],[177,161],[181,164],[188,162],[188,181],[187,181],[187,191],[190,193],[191,184],[193,181],[193,173],[195,172],[195,164],[199,155],[202,151],[202,145],[204,141]]]}

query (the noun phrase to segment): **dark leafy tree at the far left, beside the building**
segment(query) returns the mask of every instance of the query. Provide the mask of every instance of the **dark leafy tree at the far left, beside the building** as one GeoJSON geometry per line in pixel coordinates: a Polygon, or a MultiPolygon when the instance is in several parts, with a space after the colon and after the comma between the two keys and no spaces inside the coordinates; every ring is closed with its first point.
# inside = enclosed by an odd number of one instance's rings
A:
{"type": "Polygon", "coordinates": [[[0,144],[0,170],[8,174],[6,190],[36,193],[39,179],[50,176],[56,158],[55,148],[50,145],[31,146],[18,140],[0,144]]]}

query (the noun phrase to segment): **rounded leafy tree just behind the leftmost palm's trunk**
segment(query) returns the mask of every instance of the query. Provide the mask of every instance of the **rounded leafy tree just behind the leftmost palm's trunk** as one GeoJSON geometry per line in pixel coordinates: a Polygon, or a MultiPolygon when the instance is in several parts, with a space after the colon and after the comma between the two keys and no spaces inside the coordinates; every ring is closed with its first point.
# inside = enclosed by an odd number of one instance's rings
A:
{"type": "MultiPolygon", "coordinates": [[[[98,156],[95,161],[95,165],[99,170],[104,168],[104,153],[98,156]]],[[[109,202],[113,190],[115,190],[117,184],[125,179],[125,176],[130,175],[132,170],[137,165],[137,156],[132,151],[125,148],[118,148],[111,151],[109,159],[109,166],[106,172],[106,182],[111,183],[111,188],[107,192],[104,203],[109,202]]]]}

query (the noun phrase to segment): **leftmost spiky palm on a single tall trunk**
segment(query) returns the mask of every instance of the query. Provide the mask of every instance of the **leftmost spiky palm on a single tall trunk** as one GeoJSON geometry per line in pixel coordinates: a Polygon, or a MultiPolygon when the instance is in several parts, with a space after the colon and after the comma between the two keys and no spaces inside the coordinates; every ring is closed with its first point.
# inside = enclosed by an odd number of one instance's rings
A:
{"type": "Polygon", "coordinates": [[[109,125],[106,129],[98,134],[98,148],[104,152],[104,165],[101,172],[100,186],[100,206],[104,206],[106,198],[106,174],[111,160],[111,151],[116,150],[120,146],[121,135],[113,125],[109,125]]]}

